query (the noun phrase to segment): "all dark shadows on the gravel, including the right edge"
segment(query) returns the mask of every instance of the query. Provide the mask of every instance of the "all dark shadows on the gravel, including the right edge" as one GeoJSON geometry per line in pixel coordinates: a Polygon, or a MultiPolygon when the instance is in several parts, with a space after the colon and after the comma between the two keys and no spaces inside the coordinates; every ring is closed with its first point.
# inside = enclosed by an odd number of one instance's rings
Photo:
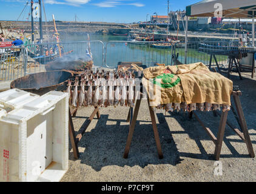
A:
{"type": "MultiPolygon", "coordinates": [[[[235,75],[231,75],[231,79],[234,80],[234,85],[239,85],[240,90],[243,93],[240,99],[250,133],[250,129],[256,129],[256,81],[248,78],[240,80],[239,78],[237,79],[237,76],[235,75]]],[[[220,117],[214,117],[212,112],[197,112],[197,114],[200,119],[205,122],[206,127],[209,127],[214,135],[217,136],[220,117]]],[[[207,153],[201,143],[202,140],[211,139],[207,136],[207,133],[204,132],[195,117],[192,119],[189,119],[188,117],[188,113],[183,112],[173,112],[168,116],[163,115],[163,113],[157,113],[157,118],[160,122],[157,124],[157,127],[164,155],[163,159],[158,159],[151,122],[137,121],[135,132],[133,133],[129,158],[124,159],[123,153],[126,146],[129,125],[123,124],[126,122],[124,119],[109,119],[109,115],[101,115],[99,120],[100,122],[97,122],[95,128],[90,132],[86,132],[79,142],[78,146],[84,148],[84,152],[80,153],[79,159],[81,159],[82,164],[91,166],[96,171],[100,171],[103,167],[113,165],[121,167],[140,166],[142,168],[148,164],[171,164],[172,166],[176,166],[183,160],[180,157],[214,160],[213,153],[207,153]],[[178,121],[183,130],[173,130],[172,124],[170,123],[169,128],[169,125],[166,122],[166,118],[168,117],[172,117],[178,121]],[[115,121],[116,124],[110,125],[107,124],[107,121],[115,121]],[[143,122],[143,124],[140,124],[141,122],[143,122]],[[189,150],[188,152],[179,152],[177,142],[175,142],[172,137],[172,134],[175,133],[184,133],[189,135],[189,138],[194,139],[196,142],[200,153],[189,153],[189,150]]],[[[228,121],[238,128],[238,123],[232,112],[229,112],[228,121]]],[[[76,134],[77,133],[78,132],[76,132],[76,134]]],[[[243,142],[238,138],[227,138],[232,135],[236,135],[236,133],[226,126],[224,144],[226,144],[231,154],[221,154],[220,157],[249,158],[248,154],[241,155],[237,150],[235,150],[235,147],[232,146],[232,142],[243,142]]],[[[250,133],[250,135],[252,136],[256,134],[250,133]]],[[[211,143],[212,147],[215,147],[214,143],[211,143]]],[[[256,141],[252,141],[252,143],[256,144],[256,141]]],[[[186,144],[186,142],[184,142],[184,144],[186,144]]],[[[246,144],[243,144],[246,149],[246,144]]],[[[73,153],[70,153],[70,159],[72,158],[73,153]]]]}

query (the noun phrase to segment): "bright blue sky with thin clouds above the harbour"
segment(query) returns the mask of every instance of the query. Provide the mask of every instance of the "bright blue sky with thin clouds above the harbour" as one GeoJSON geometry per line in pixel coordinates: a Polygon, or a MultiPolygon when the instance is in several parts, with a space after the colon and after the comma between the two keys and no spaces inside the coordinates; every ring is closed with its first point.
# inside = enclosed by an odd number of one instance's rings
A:
{"type": "MultiPolygon", "coordinates": [[[[37,0],[34,0],[35,2],[37,0]]],[[[200,0],[170,0],[170,10],[184,10],[186,5],[200,0]]],[[[16,20],[26,4],[26,0],[0,0],[0,20],[16,20]]],[[[167,0],[44,0],[48,20],[52,14],[56,20],[99,22],[146,21],[146,15],[167,15],[167,0]]],[[[19,20],[28,17],[29,6],[19,20]]],[[[149,19],[149,17],[148,17],[149,19]]]]}

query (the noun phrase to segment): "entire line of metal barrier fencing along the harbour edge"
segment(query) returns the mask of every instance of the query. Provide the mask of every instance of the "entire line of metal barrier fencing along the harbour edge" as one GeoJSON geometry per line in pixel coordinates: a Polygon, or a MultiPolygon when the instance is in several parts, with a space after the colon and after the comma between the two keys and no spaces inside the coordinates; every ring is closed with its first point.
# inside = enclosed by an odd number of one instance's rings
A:
{"type": "MultiPolygon", "coordinates": [[[[148,41],[109,41],[105,44],[102,41],[81,41],[81,42],[61,42],[60,47],[55,43],[30,44],[25,48],[7,47],[0,49],[0,81],[12,80],[24,76],[26,73],[44,72],[44,65],[59,57],[59,49],[62,56],[87,55],[90,44],[93,62],[96,67],[116,68],[118,62],[142,62],[147,67],[160,64],[173,65],[173,59],[178,53],[178,61],[184,64],[185,56],[187,64],[203,62],[209,65],[211,51],[220,47],[229,49],[237,46],[238,42],[229,41],[202,41],[188,42],[187,53],[185,44],[165,44],[167,42],[148,41]],[[161,44],[159,44],[161,43],[161,44]]],[[[216,55],[218,64],[227,64],[227,56],[216,55]]],[[[215,64],[215,60],[212,60],[215,64]]]]}

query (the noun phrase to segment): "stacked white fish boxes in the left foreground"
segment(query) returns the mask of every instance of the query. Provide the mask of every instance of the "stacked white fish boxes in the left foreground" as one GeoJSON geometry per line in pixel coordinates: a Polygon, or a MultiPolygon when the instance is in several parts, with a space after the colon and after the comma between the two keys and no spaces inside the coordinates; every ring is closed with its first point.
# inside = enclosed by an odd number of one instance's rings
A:
{"type": "Polygon", "coordinates": [[[0,181],[60,181],[69,167],[68,94],[0,93],[0,181]]]}

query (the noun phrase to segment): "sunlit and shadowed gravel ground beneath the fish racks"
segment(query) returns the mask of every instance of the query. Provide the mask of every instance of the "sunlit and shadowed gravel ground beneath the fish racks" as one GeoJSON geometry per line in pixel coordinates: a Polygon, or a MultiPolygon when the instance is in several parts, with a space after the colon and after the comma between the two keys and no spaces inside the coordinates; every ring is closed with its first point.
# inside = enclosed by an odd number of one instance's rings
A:
{"type": "MultiPolygon", "coordinates": [[[[231,79],[243,93],[240,99],[256,151],[256,78],[251,79],[249,73],[243,76],[240,81],[234,73],[231,79]]],[[[78,111],[73,118],[76,131],[92,111],[91,107],[78,111]]],[[[156,111],[164,155],[158,159],[146,101],[141,102],[129,158],[124,159],[128,111],[129,107],[120,106],[100,109],[101,118],[93,119],[78,144],[78,160],[69,147],[69,170],[61,181],[256,181],[255,158],[250,158],[246,144],[228,126],[220,156],[223,175],[214,175],[214,143],[196,119],[189,120],[183,112],[156,111]]],[[[217,136],[220,118],[211,112],[198,116],[217,136]]],[[[232,112],[228,120],[238,127],[232,112]]]]}

